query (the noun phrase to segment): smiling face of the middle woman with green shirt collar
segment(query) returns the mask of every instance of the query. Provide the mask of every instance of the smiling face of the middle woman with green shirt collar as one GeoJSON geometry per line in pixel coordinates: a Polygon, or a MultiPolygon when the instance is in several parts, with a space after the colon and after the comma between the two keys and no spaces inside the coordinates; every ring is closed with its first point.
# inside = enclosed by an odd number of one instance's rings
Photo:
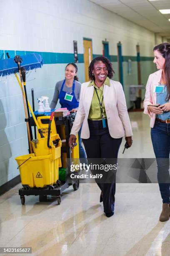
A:
{"type": "Polygon", "coordinates": [[[97,82],[104,82],[108,74],[108,69],[106,64],[103,63],[102,61],[95,62],[92,73],[94,74],[95,80],[97,82]]]}

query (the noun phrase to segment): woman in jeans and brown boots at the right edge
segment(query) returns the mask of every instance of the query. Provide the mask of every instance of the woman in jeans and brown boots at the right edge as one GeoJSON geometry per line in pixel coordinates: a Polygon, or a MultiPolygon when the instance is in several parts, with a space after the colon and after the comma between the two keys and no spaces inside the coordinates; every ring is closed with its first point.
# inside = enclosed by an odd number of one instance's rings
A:
{"type": "Polygon", "coordinates": [[[170,44],[159,44],[153,51],[153,62],[159,70],[149,76],[144,113],[150,116],[151,139],[158,166],[163,200],[160,221],[167,221],[170,216],[170,44]]]}

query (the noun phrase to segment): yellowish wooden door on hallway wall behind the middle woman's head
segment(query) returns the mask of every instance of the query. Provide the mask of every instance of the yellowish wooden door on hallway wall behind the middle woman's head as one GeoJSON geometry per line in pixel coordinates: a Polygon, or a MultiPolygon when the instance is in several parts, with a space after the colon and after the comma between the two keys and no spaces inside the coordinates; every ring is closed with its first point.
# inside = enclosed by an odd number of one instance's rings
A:
{"type": "Polygon", "coordinates": [[[83,46],[84,46],[85,82],[87,82],[89,81],[88,67],[90,62],[92,61],[92,41],[84,39],[83,46]]]}

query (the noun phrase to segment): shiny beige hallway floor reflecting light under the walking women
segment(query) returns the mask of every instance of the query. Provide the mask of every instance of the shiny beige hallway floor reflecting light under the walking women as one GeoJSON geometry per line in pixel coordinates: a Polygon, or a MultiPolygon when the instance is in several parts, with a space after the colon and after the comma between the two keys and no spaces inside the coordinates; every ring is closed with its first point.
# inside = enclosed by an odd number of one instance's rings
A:
{"type": "MultiPolygon", "coordinates": [[[[130,113],[133,147],[119,157],[154,157],[149,119],[130,113]]],[[[21,184],[0,196],[0,247],[32,247],[36,256],[168,256],[170,220],[161,223],[158,184],[117,184],[115,214],[106,218],[96,184],[69,187],[61,205],[28,196],[21,205],[21,184]]],[[[1,254],[2,255],[2,254],[1,254]]],[[[19,254],[16,254],[19,255],[19,254]]]]}

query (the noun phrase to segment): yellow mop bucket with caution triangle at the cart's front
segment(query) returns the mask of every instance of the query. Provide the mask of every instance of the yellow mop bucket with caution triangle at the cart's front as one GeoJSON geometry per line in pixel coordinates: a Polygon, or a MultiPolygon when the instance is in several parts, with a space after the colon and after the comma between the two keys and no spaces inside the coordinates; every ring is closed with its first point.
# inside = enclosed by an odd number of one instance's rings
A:
{"type": "Polygon", "coordinates": [[[52,155],[35,156],[28,154],[15,158],[20,170],[21,183],[29,187],[46,187],[56,183],[58,177],[58,161],[52,155]]]}

